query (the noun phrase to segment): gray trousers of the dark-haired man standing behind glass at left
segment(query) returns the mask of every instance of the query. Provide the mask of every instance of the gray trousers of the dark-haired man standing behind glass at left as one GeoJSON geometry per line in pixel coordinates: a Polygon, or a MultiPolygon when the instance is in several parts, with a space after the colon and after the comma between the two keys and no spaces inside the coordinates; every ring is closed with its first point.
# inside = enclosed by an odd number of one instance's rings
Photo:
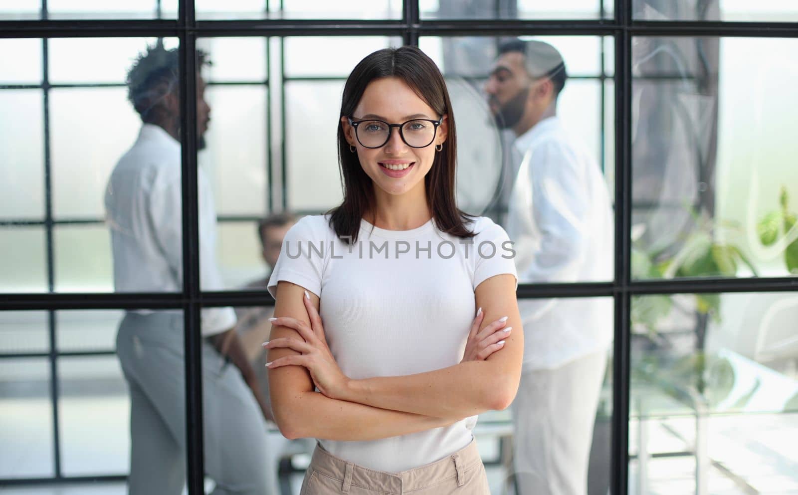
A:
{"type": "MultiPolygon", "coordinates": [[[[214,495],[264,495],[267,426],[237,367],[203,342],[205,471],[214,495]]],[[[128,313],[117,355],[130,387],[130,495],[180,495],[186,476],[183,318],[128,313]]]]}

